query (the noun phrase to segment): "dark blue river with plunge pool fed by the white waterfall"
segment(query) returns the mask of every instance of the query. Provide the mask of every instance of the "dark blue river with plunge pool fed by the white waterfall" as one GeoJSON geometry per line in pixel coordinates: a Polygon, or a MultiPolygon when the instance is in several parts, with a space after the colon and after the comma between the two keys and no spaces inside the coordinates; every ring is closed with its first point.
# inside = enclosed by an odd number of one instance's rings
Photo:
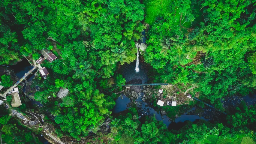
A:
{"type": "MultiPolygon", "coordinates": [[[[139,43],[146,43],[146,33],[145,30],[142,32],[142,35],[144,36],[139,43]]],[[[140,58],[141,59],[141,58],[140,58]]],[[[131,64],[125,64],[121,68],[122,76],[124,76],[126,80],[126,84],[131,83],[146,83],[149,78],[147,76],[147,67],[143,64],[143,61],[140,61],[139,68],[140,71],[135,71],[135,65],[136,60],[132,62],[131,64]]],[[[195,106],[189,110],[187,110],[186,113],[183,113],[181,116],[177,117],[175,120],[169,119],[166,115],[161,116],[160,111],[156,111],[152,104],[147,104],[146,102],[142,101],[143,98],[143,92],[141,90],[143,89],[142,86],[133,86],[134,90],[138,93],[140,93],[140,96],[135,99],[137,110],[140,116],[140,119],[143,118],[143,116],[149,115],[154,116],[158,121],[163,121],[163,123],[169,128],[169,129],[179,129],[183,125],[185,125],[186,121],[198,121],[199,119],[203,119],[206,121],[214,122],[214,121],[225,121],[226,115],[218,112],[217,110],[205,106],[204,108],[195,106]]],[[[137,93],[137,94],[138,94],[137,93]]],[[[240,104],[241,101],[245,101],[248,105],[250,104],[256,104],[256,95],[246,95],[244,97],[239,96],[233,96],[230,98],[225,98],[223,102],[223,106],[225,108],[236,107],[238,104],[240,104]]],[[[113,108],[113,113],[117,114],[124,110],[127,110],[129,107],[131,107],[131,100],[124,94],[121,94],[119,98],[116,99],[116,105],[113,108]]]]}

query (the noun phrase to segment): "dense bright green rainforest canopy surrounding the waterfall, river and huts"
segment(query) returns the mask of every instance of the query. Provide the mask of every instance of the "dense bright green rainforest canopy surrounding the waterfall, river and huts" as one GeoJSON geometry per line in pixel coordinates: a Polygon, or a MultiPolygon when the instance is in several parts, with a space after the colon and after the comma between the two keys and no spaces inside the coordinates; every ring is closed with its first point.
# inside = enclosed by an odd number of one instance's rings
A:
{"type": "MultiPolygon", "coordinates": [[[[255,94],[255,15],[256,0],[1,0],[0,65],[37,60],[42,49],[57,56],[41,63],[50,73],[47,79],[37,74],[32,80],[40,87],[34,100],[43,105],[32,111],[44,114],[52,135],[65,143],[250,144],[256,140],[256,105],[241,102],[230,111],[222,101],[255,94]],[[227,116],[168,129],[154,115],[142,121],[136,106],[112,113],[115,92],[127,82],[119,69],[136,61],[135,43],[143,30],[147,48],[140,58],[148,67],[148,83],[193,88],[192,97],[227,116]],[[60,88],[69,90],[63,99],[56,97],[60,88]],[[107,118],[110,129],[102,132],[107,118]]],[[[8,74],[0,81],[1,94],[16,83],[8,74]]],[[[26,97],[20,98],[16,108],[10,106],[11,95],[2,99],[1,143],[43,143],[38,135],[46,126],[27,126],[11,115],[15,110],[38,117],[27,113],[26,97]]],[[[167,113],[181,115],[194,105],[207,107],[190,101],[167,113]]]]}

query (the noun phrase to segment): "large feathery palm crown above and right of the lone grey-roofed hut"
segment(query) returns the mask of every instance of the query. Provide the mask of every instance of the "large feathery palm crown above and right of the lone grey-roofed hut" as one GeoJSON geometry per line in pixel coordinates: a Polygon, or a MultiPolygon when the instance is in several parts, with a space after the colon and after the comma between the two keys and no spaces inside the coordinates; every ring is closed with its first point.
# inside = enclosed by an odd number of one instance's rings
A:
{"type": "Polygon", "coordinates": [[[76,61],[76,65],[73,68],[76,71],[75,76],[77,78],[84,78],[84,76],[89,76],[89,73],[92,72],[93,70],[91,69],[92,64],[89,64],[88,61],[81,61],[81,62],[77,62],[76,61]]]}

